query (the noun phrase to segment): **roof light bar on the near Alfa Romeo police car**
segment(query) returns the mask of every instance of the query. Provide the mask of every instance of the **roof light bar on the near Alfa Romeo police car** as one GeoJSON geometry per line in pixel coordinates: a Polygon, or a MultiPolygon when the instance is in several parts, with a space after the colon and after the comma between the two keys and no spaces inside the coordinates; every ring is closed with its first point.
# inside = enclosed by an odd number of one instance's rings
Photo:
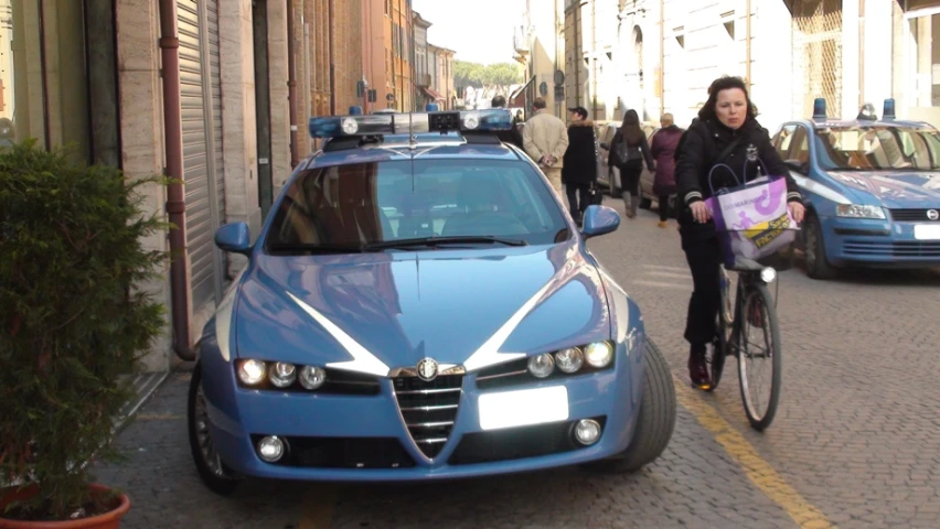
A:
{"type": "MultiPolygon", "coordinates": [[[[352,109],[351,109],[352,110],[352,109]]],[[[508,109],[461,110],[368,116],[322,116],[310,118],[312,138],[341,136],[417,134],[421,132],[492,132],[512,129],[508,109]]]]}

